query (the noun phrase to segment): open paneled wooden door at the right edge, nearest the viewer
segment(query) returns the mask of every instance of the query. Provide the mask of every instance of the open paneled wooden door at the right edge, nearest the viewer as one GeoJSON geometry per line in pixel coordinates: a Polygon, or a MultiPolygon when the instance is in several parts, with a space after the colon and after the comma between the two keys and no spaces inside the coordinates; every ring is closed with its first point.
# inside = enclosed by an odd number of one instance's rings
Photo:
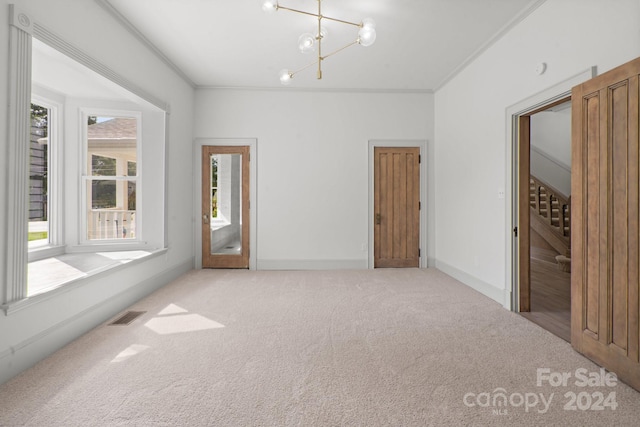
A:
{"type": "Polygon", "coordinates": [[[571,344],[640,390],[640,58],[573,88],[571,344]]]}

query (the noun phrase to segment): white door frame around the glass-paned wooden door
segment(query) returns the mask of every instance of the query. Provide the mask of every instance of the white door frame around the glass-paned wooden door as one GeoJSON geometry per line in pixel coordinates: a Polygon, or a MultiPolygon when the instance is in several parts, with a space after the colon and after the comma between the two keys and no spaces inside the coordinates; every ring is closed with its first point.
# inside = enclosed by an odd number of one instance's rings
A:
{"type": "Polygon", "coordinates": [[[192,233],[195,236],[195,268],[202,268],[202,147],[203,146],[248,146],[249,147],[249,270],[255,270],[258,253],[258,186],[257,159],[258,140],[255,138],[196,138],[193,144],[193,212],[192,233]]]}

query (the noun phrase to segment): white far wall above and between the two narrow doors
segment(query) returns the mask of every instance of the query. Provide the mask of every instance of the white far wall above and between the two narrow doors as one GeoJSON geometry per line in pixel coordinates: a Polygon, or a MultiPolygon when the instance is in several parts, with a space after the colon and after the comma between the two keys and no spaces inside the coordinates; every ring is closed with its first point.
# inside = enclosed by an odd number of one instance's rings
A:
{"type": "Polygon", "coordinates": [[[195,136],[258,140],[258,268],[366,268],[368,141],[432,140],[433,96],[203,89],[195,136]]]}

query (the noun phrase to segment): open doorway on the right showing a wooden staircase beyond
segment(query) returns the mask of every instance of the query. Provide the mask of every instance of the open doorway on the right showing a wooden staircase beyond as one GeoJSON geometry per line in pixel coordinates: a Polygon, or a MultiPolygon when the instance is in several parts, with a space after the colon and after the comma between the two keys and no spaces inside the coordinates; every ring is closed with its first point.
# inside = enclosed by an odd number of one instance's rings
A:
{"type": "Polygon", "coordinates": [[[518,118],[520,314],[571,340],[571,97],[518,118]]]}

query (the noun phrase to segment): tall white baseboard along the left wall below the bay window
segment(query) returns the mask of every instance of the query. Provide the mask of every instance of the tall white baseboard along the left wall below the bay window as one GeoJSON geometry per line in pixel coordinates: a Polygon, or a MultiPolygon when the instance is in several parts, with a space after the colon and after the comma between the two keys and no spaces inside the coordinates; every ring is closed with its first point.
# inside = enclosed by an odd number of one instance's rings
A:
{"type": "Polygon", "coordinates": [[[0,384],[192,270],[193,267],[194,259],[191,257],[3,351],[0,353],[0,384]]]}

